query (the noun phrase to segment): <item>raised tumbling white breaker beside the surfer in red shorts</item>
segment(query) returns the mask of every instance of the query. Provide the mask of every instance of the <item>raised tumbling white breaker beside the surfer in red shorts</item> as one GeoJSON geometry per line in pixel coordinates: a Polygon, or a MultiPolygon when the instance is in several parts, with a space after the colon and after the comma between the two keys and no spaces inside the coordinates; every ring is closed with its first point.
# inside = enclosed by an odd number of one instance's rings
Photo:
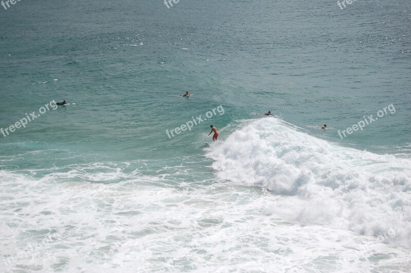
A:
{"type": "Polygon", "coordinates": [[[259,119],[208,153],[221,179],[267,188],[288,221],[350,229],[411,246],[411,160],[346,148],[259,119]]]}

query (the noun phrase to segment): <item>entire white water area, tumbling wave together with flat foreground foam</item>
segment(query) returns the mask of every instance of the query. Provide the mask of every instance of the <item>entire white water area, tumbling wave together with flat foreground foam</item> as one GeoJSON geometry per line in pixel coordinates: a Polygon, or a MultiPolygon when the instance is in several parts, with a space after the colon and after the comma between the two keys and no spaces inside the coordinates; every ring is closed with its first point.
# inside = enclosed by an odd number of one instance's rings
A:
{"type": "Polygon", "coordinates": [[[411,270],[410,159],[276,118],[230,130],[167,164],[2,170],[2,255],[28,256],[4,272],[411,270]]]}

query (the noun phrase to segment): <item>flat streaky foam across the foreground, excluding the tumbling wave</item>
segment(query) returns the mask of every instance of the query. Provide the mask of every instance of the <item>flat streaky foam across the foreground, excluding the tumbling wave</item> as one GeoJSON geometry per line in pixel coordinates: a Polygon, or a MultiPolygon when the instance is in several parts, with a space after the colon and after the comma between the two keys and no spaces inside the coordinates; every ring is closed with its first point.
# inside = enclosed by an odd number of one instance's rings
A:
{"type": "Polygon", "coordinates": [[[202,160],[0,170],[0,271],[411,270],[409,250],[285,222],[276,207],[290,196],[215,179],[202,160]]]}

